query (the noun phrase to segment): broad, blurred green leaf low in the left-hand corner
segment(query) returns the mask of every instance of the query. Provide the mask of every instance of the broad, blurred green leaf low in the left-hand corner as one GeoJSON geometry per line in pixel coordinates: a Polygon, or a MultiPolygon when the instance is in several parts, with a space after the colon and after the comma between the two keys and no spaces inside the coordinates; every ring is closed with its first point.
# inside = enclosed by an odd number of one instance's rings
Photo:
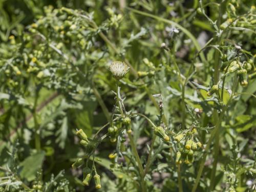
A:
{"type": "Polygon", "coordinates": [[[20,176],[28,181],[35,179],[36,172],[41,168],[44,157],[45,152],[41,151],[26,158],[22,163],[20,163],[20,166],[22,167],[20,176]]]}

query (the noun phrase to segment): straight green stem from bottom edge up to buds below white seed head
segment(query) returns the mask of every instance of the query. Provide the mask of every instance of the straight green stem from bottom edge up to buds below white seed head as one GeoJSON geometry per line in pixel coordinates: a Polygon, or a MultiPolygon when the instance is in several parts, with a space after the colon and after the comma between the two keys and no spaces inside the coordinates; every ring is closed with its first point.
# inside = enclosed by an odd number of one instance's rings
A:
{"type": "Polygon", "coordinates": [[[140,157],[139,157],[139,154],[137,152],[136,145],[134,143],[132,134],[131,133],[127,133],[127,134],[128,134],[129,139],[130,139],[130,144],[131,144],[131,147],[132,147],[132,151],[135,155],[135,159],[136,159],[136,161],[138,163],[138,166],[139,166],[139,173],[140,173],[140,177],[141,177],[141,189],[142,189],[143,192],[145,192],[146,191],[146,186],[145,186],[145,181],[144,181],[143,166],[141,164],[140,157]]]}

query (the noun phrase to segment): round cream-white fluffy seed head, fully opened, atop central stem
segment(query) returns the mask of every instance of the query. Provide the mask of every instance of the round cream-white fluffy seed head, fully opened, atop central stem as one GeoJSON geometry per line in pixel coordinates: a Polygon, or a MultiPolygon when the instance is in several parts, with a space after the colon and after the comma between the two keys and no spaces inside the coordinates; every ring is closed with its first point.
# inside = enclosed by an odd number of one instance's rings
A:
{"type": "Polygon", "coordinates": [[[129,72],[129,67],[123,61],[114,61],[110,65],[110,71],[116,79],[121,79],[129,72]]]}

